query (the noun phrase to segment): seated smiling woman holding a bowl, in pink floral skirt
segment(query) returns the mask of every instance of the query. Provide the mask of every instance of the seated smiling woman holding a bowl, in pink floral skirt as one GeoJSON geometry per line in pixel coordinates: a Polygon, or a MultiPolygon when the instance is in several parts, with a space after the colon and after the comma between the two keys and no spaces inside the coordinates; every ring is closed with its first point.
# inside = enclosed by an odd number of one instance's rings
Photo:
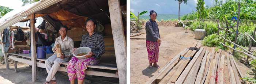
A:
{"type": "MultiPolygon", "coordinates": [[[[68,77],[71,84],[75,83],[75,78],[78,78],[78,84],[83,84],[85,70],[88,65],[97,65],[99,64],[100,57],[105,53],[105,45],[103,41],[103,36],[95,32],[97,22],[93,18],[88,18],[86,20],[86,30],[88,33],[82,36],[82,41],[80,47],[90,47],[91,51],[89,55],[86,55],[86,58],[78,59],[72,57],[68,62],[68,77]]],[[[74,48],[72,52],[75,50],[74,48]]]]}

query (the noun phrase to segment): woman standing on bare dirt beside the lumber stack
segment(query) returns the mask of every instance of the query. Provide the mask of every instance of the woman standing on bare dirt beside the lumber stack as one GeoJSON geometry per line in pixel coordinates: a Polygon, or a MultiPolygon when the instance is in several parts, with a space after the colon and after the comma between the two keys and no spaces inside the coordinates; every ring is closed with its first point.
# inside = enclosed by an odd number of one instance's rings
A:
{"type": "Polygon", "coordinates": [[[149,16],[150,19],[146,23],[146,45],[149,67],[152,67],[152,64],[154,63],[153,66],[160,68],[160,66],[157,64],[159,46],[161,44],[158,25],[155,22],[155,19],[157,18],[157,12],[151,10],[149,16]]]}

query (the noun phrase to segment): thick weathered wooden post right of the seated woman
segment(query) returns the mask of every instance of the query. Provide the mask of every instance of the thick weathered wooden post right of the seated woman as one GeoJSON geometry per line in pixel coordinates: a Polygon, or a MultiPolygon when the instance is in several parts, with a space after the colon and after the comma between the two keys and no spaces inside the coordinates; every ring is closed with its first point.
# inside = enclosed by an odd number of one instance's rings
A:
{"type": "Polygon", "coordinates": [[[124,37],[124,27],[121,15],[120,1],[108,0],[108,4],[112,34],[114,39],[119,83],[126,84],[126,41],[124,37]]]}

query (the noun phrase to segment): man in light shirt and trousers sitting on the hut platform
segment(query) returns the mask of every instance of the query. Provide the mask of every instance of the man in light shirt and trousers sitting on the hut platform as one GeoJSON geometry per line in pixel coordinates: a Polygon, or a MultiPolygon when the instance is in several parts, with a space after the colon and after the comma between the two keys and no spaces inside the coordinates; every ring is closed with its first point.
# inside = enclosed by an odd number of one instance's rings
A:
{"type": "Polygon", "coordinates": [[[60,64],[62,62],[67,62],[70,60],[70,57],[72,55],[71,51],[74,48],[74,42],[71,38],[67,36],[67,30],[68,30],[67,26],[60,27],[59,33],[61,36],[56,38],[55,44],[52,48],[52,50],[55,53],[45,61],[45,67],[46,67],[48,76],[46,77],[46,82],[44,84],[48,84],[50,83],[50,81],[52,82],[52,84],[56,84],[56,78],[54,77],[54,75],[58,71],[60,64]],[[57,54],[56,54],[57,44],[61,46],[61,51],[63,53],[59,58],[57,58],[57,54]]]}

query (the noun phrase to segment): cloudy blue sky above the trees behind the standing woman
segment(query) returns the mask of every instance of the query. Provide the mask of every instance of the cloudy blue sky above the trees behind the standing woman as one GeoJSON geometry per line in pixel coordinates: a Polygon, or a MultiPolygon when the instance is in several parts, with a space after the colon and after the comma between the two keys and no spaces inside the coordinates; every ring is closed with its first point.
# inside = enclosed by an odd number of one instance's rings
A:
{"type": "MultiPolygon", "coordinates": [[[[211,7],[214,0],[204,0],[205,5],[211,7]]],[[[225,0],[224,0],[225,1],[225,0]]],[[[184,15],[196,11],[197,0],[188,0],[180,5],[180,14],[184,15]]],[[[138,12],[150,11],[154,9],[158,14],[176,14],[178,15],[178,1],[174,0],[131,0],[131,11],[138,15],[138,12]]],[[[149,14],[149,13],[147,13],[149,14]]],[[[147,15],[145,14],[145,15],[147,15]]]]}

